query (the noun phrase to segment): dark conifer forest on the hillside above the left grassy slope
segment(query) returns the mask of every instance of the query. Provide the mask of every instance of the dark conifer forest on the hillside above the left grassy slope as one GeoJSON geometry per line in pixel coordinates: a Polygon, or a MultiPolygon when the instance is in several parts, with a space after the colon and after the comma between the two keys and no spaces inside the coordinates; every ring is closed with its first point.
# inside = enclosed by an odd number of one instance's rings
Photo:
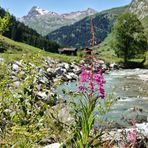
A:
{"type": "MultiPolygon", "coordinates": [[[[0,7],[0,17],[3,17],[5,13],[6,11],[0,7]]],[[[50,52],[57,52],[59,47],[56,42],[49,41],[35,30],[17,21],[14,16],[11,17],[9,30],[3,35],[12,40],[27,43],[50,52]]]]}

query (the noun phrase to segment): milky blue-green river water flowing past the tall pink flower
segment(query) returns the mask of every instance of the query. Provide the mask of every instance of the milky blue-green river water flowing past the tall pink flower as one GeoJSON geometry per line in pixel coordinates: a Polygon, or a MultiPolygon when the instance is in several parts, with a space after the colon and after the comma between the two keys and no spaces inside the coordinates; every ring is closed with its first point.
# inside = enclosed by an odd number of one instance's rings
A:
{"type": "MultiPolygon", "coordinates": [[[[128,69],[112,71],[105,74],[105,92],[112,98],[117,98],[111,107],[107,118],[115,121],[120,126],[127,126],[131,119],[138,122],[148,120],[148,69],[128,69]]],[[[76,82],[63,84],[59,92],[65,87],[77,90],[76,82]]]]}

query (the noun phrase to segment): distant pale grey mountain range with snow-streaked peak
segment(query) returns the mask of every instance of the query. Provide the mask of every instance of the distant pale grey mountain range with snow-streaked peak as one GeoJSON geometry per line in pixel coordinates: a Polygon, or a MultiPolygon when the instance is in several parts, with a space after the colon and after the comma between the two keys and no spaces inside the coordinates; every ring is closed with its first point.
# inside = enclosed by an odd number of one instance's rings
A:
{"type": "Polygon", "coordinates": [[[19,20],[30,28],[35,29],[38,33],[47,35],[60,27],[71,25],[87,16],[94,15],[95,13],[97,13],[97,11],[88,8],[85,11],[58,14],[34,6],[26,16],[23,16],[19,20]]]}

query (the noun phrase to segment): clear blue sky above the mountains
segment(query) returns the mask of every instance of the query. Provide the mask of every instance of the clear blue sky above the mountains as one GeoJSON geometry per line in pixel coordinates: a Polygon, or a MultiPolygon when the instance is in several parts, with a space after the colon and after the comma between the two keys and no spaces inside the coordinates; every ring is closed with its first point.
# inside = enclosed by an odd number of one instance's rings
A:
{"type": "Polygon", "coordinates": [[[97,11],[124,6],[132,0],[0,0],[0,6],[16,17],[22,17],[33,6],[57,13],[67,13],[93,8],[97,11]]]}

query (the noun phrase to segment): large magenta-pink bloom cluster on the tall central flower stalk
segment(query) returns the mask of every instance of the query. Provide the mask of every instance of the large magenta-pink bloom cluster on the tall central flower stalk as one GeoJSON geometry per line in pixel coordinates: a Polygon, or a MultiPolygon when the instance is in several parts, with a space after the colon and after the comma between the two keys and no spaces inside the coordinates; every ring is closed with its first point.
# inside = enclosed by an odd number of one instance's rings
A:
{"type": "Polygon", "coordinates": [[[85,67],[82,67],[81,70],[79,90],[84,92],[98,91],[101,98],[104,98],[104,77],[102,69],[100,68],[98,72],[93,72],[92,70],[87,70],[85,67]]]}

